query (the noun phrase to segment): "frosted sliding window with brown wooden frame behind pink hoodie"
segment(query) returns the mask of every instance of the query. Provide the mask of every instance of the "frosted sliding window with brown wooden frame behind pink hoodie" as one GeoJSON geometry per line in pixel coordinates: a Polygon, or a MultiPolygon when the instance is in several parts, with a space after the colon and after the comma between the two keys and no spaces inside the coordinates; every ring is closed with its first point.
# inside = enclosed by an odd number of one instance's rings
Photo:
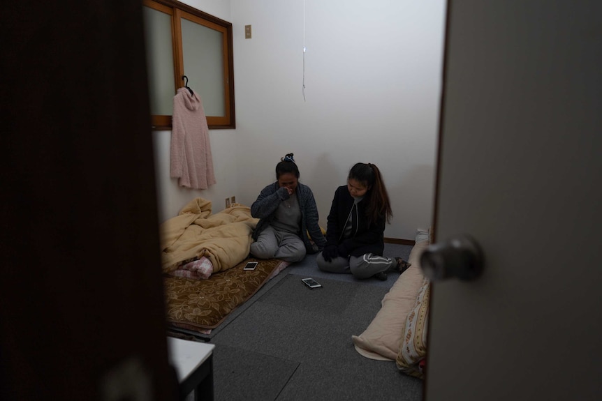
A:
{"type": "Polygon", "coordinates": [[[142,3],[153,129],[171,129],[184,75],[203,100],[209,128],[235,128],[232,24],[175,0],[142,3]]]}

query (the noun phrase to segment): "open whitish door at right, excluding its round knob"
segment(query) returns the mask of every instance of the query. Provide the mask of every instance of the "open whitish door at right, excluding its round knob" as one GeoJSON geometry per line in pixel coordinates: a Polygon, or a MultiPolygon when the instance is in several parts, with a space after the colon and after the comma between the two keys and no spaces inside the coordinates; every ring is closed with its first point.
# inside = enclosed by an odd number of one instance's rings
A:
{"type": "Polygon", "coordinates": [[[448,7],[425,400],[602,400],[602,1],[448,7]]]}

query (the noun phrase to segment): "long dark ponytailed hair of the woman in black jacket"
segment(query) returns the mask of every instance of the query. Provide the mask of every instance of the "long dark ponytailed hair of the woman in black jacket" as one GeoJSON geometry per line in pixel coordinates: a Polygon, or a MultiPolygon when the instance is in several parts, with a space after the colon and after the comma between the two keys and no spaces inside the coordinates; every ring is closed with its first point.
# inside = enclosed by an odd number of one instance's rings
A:
{"type": "Polygon", "coordinates": [[[379,167],[376,167],[372,163],[355,163],[351,167],[351,170],[349,170],[347,179],[354,179],[369,188],[366,193],[368,197],[368,207],[366,209],[368,224],[371,225],[383,216],[387,222],[390,222],[393,217],[393,211],[391,210],[389,195],[379,167]]]}

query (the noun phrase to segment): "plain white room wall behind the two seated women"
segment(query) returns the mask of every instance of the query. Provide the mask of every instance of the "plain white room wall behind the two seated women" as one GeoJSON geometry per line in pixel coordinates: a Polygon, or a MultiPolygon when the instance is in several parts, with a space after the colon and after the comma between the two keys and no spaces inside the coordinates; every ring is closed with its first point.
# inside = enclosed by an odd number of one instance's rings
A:
{"type": "Polygon", "coordinates": [[[177,188],[169,133],[155,134],[160,217],[196,196],[214,211],[230,195],[250,205],[293,152],[323,227],[335,188],[360,161],[385,178],[386,237],[412,240],[431,224],[444,0],[230,0],[230,15],[228,1],[186,3],[233,23],[237,128],[210,133],[217,184],[206,191],[177,188]]]}

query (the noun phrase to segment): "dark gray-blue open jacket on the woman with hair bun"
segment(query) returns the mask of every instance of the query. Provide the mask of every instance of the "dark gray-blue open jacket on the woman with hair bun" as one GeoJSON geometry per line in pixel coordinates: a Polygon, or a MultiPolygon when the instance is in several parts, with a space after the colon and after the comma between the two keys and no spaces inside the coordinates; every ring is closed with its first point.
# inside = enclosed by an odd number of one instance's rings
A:
{"type": "MultiPolygon", "coordinates": [[[[300,239],[303,240],[307,253],[316,253],[322,250],[326,243],[326,239],[322,234],[320,225],[318,224],[318,206],[314,199],[314,192],[311,192],[308,186],[297,184],[297,200],[299,201],[299,209],[301,210],[301,232],[297,233],[300,239]],[[309,241],[309,236],[316,243],[318,249],[314,249],[309,241]]],[[[253,232],[253,239],[256,240],[259,233],[269,226],[280,202],[288,199],[288,191],[286,188],[280,188],[278,181],[266,186],[261,190],[257,200],[251,205],[251,215],[254,218],[259,218],[257,227],[253,232]]]]}

